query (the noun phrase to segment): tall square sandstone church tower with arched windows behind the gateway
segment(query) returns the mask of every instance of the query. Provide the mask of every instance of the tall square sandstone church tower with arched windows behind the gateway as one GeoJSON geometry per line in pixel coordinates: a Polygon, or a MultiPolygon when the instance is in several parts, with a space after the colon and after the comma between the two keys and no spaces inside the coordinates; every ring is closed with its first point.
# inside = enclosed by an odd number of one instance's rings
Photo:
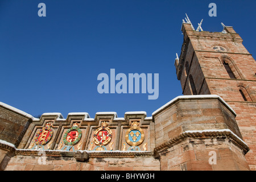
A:
{"type": "MultiPolygon", "coordinates": [[[[186,19],[187,20],[187,19],[186,19]]],[[[256,170],[256,62],[233,27],[222,32],[195,30],[188,19],[181,31],[184,42],[175,60],[184,95],[217,94],[236,112],[246,160],[256,170]]]]}

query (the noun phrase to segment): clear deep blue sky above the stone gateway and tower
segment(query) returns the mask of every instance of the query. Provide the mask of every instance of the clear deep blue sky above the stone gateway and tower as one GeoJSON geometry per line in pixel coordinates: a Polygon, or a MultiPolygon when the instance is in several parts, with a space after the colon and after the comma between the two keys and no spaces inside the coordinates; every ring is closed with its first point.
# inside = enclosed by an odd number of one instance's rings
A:
{"type": "Polygon", "coordinates": [[[205,31],[233,26],[255,54],[255,1],[1,0],[0,101],[31,115],[59,112],[146,111],[147,116],[182,95],[174,67],[181,23],[204,19],[205,31]],[[46,4],[46,17],[38,4],[46,4]],[[208,15],[209,3],[217,17],[208,15]],[[159,97],[100,94],[97,76],[159,73],[159,97]]]}

